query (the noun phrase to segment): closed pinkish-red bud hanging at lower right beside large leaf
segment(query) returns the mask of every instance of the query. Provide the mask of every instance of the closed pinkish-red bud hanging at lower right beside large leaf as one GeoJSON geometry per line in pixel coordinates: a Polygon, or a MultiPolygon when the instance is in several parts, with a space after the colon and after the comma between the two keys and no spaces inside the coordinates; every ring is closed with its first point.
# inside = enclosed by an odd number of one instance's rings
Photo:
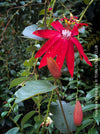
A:
{"type": "Polygon", "coordinates": [[[79,101],[76,102],[74,108],[74,124],[80,126],[83,120],[82,107],[79,101]]]}

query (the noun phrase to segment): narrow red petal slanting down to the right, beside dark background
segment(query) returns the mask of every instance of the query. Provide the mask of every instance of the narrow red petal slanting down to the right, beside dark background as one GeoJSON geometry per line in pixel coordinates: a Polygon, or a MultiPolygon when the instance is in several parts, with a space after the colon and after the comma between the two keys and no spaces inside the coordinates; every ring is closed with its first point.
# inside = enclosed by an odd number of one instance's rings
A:
{"type": "Polygon", "coordinates": [[[76,45],[76,47],[79,50],[79,53],[83,56],[83,58],[85,59],[85,61],[87,62],[87,64],[89,64],[90,66],[92,66],[91,62],[88,60],[88,57],[85,55],[84,50],[82,45],[80,44],[80,42],[76,39],[76,38],[71,38],[71,41],[76,45]]]}

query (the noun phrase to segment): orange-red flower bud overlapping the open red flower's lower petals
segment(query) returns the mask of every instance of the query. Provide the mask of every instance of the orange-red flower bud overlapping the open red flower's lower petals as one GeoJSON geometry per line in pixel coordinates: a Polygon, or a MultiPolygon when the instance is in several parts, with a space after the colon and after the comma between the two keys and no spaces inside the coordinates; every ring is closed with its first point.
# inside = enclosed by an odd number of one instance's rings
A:
{"type": "Polygon", "coordinates": [[[59,66],[55,62],[55,60],[51,57],[47,58],[47,66],[54,78],[59,78],[61,76],[61,70],[59,69],[59,66]]]}

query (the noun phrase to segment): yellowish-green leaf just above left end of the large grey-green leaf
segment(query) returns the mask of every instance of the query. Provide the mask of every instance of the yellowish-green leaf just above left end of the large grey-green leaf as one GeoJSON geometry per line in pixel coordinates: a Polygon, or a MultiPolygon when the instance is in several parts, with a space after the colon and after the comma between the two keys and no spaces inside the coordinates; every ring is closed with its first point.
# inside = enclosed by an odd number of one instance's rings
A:
{"type": "Polygon", "coordinates": [[[27,79],[27,77],[20,77],[20,78],[16,78],[16,79],[12,80],[11,83],[10,83],[9,89],[12,88],[12,87],[17,86],[18,84],[21,84],[26,79],[27,79]]]}

